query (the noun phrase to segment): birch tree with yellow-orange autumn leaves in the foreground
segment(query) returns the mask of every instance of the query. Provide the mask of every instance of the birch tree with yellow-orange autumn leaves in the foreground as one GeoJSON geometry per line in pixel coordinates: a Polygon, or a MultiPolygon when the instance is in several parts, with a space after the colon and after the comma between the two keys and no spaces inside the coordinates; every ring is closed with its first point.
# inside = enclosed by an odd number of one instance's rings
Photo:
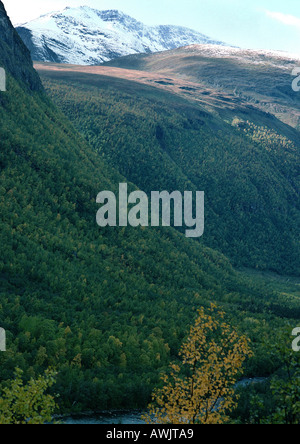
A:
{"type": "Polygon", "coordinates": [[[223,424],[236,407],[234,386],[252,355],[250,340],[228,325],[225,313],[211,305],[198,311],[195,325],[155,390],[148,424],[223,424]]]}

